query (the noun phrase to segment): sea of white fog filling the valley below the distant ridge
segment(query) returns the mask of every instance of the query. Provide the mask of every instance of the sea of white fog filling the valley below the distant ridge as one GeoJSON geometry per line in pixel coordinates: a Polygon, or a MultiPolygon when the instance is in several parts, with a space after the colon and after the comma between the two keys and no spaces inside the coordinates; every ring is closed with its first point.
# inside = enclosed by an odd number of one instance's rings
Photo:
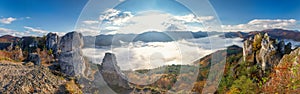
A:
{"type": "Polygon", "coordinates": [[[84,48],[89,61],[101,64],[107,52],[114,53],[121,70],[152,69],[163,65],[193,64],[194,61],[227,46],[242,47],[241,38],[219,35],[172,42],[130,42],[115,47],[84,48]]]}

